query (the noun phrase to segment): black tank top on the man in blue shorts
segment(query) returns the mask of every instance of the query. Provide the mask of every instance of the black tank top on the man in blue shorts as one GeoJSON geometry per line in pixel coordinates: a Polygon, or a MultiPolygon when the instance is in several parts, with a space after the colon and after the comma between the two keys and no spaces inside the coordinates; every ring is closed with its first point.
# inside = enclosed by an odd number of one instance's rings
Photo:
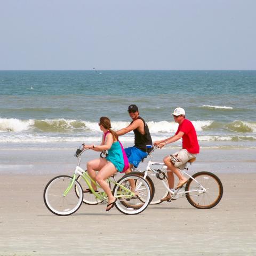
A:
{"type": "MultiPolygon", "coordinates": [[[[151,135],[149,133],[148,125],[146,124],[144,119],[141,118],[140,116],[137,119],[141,119],[142,122],[144,123],[145,134],[141,134],[138,131],[138,129],[133,130],[133,132],[134,132],[134,146],[136,148],[139,148],[140,150],[146,152],[146,150],[147,150],[146,145],[152,145],[151,135]]],[[[131,122],[131,124],[132,123],[133,123],[133,121],[131,122]]]]}

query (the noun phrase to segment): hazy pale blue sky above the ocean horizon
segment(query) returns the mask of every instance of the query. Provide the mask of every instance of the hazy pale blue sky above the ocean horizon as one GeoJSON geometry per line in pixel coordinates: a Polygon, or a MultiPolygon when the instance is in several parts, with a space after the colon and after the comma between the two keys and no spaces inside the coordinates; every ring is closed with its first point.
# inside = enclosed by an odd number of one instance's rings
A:
{"type": "Polygon", "coordinates": [[[0,0],[0,70],[256,69],[255,0],[0,0]]]}

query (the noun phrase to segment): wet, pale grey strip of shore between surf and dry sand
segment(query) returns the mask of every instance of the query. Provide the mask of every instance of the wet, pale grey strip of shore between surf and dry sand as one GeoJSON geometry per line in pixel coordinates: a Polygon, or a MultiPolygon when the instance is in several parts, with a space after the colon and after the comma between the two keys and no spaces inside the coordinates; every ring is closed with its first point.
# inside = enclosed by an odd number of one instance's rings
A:
{"type": "MultiPolygon", "coordinates": [[[[14,146],[14,145],[13,145],[14,146]]],[[[77,158],[74,153],[77,143],[61,145],[55,149],[51,145],[46,148],[15,148],[0,149],[0,175],[10,174],[68,174],[75,169],[77,158]]],[[[124,143],[124,147],[128,147],[124,143]]],[[[164,156],[177,151],[176,148],[157,149],[153,153],[154,162],[162,162],[164,156]]],[[[213,173],[256,173],[255,149],[201,149],[196,162],[189,166],[189,172],[210,171],[213,173]]],[[[86,162],[98,158],[99,153],[93,150],[82,155],[81,167],[86,169],[86,162]]],[[[145,170],[149,156],[140,163],[138,169],[145,170]]]]}

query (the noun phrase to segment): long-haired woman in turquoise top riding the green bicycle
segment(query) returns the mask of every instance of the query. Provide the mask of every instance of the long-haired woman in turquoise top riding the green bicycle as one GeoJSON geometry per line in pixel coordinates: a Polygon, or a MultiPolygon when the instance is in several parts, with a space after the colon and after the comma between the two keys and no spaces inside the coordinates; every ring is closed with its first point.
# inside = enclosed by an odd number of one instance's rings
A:
{"type": "MultiPolygon", "coordinates": [[[[108,205],[106,211],[109,211],[115,204],[116,199],[112,195],[108,183],[105,181],[117,171],[122,172],[124,169],[124,158],[121,145],[118,141],[118,135],[111,130],[111,123],[108,117],[102,116],[99,122],[100,130],[103,132],[101,145],[84,145],[94,151],[108,150],[107,158],[97,158],[87,163],[87,171],[90,177],[99,183],[108,196],[108,205]],[[99,171],[97,174],[95,171],[99,171]]],[[[92,187],[97,191],[97,187],[92,183],[92,187]]],[[[84,193],[92,193],[86,189],[84,193]]]]}

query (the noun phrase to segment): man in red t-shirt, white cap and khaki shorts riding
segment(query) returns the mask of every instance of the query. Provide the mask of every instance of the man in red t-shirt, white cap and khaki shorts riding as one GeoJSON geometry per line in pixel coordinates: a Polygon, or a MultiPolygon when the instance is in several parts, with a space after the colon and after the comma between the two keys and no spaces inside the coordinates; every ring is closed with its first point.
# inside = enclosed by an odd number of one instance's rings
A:
{"type": "MultiPolygon", "coordinates": [[[[179,178],[179,183],[177,188],[182,187],[188,180],[183,177],[183,175],[179,172],[179,169],[184,169],[185,164],[189,161],[189,159],[195,158],[196,154],[199,153],[199,145],[197,141],[197,135],[194,125],[188,120],[185,119],[185,110],[183,108],[175,108],[172,113],[175,123],[179,124],[178,130],[174,136],[155,141],[154,145],[162,148],[168,143],[172,143],[174,141],[182,138],[182,149],[173,155],[166,156],[164,158],[164,163],[167,166],[167,178],[169,183],[169,188],[173,189],[174,187],[174,175],[175,173],[179,178]],[[178,169],[179,168],[179,169],[178,169]]],[[[169,201],[171,199],[170,194],[166,197],[162,198],[161,201],[169,201]]]]}

